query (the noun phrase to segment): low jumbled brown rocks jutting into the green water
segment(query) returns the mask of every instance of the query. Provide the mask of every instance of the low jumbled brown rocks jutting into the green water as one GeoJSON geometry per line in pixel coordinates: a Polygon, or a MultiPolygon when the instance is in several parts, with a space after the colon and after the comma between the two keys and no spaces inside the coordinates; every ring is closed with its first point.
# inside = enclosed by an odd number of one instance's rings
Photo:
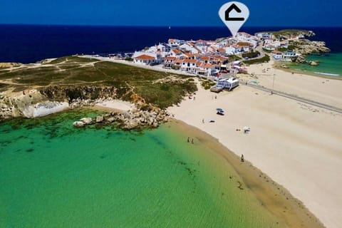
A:
{"type": "Polygon", "coordinates": [[[99,115],[96,118],[82,118],[80,121],[75,121],[73,125],[77,128],[85,125],[101,124],[112,125],[115,124],[118,128],[123,130],[137,130],[141,128],[157,128],[160,123],[167,121],[167,113],[165,110],[155,108],[155,110],[130,110],[125,113],[108,113],[99,115]]]}

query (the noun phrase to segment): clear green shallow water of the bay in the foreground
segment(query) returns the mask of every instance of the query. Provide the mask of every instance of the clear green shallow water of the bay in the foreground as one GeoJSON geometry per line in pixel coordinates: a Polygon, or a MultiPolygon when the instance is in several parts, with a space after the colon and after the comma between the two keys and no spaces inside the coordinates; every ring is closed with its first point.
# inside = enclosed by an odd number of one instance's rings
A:
{"type": "Polygon", "coordinates": [[[84,115],[0,124],[0,227],[281,227],[175,124],[73,128],[84,115]]]}

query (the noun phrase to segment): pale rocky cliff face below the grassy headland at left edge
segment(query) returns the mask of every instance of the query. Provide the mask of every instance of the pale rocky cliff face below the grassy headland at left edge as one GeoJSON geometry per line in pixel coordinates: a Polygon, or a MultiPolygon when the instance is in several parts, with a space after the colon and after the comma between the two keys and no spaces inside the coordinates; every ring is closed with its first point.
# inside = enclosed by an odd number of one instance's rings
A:
{"type": "Polygon", "coordinates": [[[25,90],[17,95],[0,94],[0,120],[36,118],[67,108],[94,105],[99,100],[115,98],[111,86],[49,86],[40,90],[25,90]]]}

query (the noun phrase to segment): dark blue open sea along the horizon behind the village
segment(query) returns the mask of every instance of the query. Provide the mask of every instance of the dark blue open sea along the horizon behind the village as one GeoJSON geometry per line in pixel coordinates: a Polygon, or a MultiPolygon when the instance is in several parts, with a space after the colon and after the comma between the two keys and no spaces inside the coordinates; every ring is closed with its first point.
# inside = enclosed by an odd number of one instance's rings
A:
{"type": "MultiPolygon", "coordinates": [[[[284,27],[245,27],[240,31],[276,31],[284,27]]],[[[316,33],[311,39],[326,41],[342,52],[342,28],[301,28],[316,33]]],[[[72,54],[126,53],[167,42],[168,38],[215,39],[230,36],[226,27],[124,27],[0,25],[0,62],[35,63],[72,54]]]]}

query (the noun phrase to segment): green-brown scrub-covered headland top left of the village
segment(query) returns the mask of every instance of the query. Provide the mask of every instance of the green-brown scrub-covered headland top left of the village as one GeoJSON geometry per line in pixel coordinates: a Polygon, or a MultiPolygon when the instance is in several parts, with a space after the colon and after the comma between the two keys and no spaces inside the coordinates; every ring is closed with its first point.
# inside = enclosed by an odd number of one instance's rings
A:
{"type": "Polygon", "coordinates": [[[20,90],[33,86],[113,86],[117,98],[131,100],[136,94],[160,108],[179,103],[184,95],[197,90],[191,76],[76,56],[57,58],[38,67],[14,68],[0,73],[0,79],[11,79],[15,84],[11,86],[20,90]]]}

